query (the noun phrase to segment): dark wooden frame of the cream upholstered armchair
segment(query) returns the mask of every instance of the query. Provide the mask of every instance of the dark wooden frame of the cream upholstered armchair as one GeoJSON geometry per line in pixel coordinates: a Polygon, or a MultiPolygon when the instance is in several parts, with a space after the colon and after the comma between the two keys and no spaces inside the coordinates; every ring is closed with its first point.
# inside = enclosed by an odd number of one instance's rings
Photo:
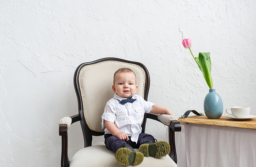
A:
{"type": "MultiPolygon", "coordinates": [[[[124,59],[120,59],[120,58],[114,58],[114,57],[108,57],[108,58],[102,58],[99,60],[95,60],[92,62],[86,62],[86,63],[82,63],[80,64],[74,73],[74,88],[75,88],[75,92],[76,92],[76,96],[77,96],[77,101],[78,101],[78,114],[71,116],[70,118],[72,119],[72,123],[75,123],[77,121],[80,121],[81,127],[82,127],[82,132],[83,132],[83,138],[84,138],[84,147],[89,147],[92,145],[92,136],[101,136],[104,135],[104,132],[94,132],[91,131],[89,129],[89,127],[87,126],[87,124],[85,123],[84,120],[84,115],[83,115],[83,107],[82,107],[82,99],[81,99],[81,93],[80,93],[80,88],[79,88],[79,83],[78,83],[78,75],[80,70],[85,66],[85,65],[89,65],[89,64],[95,64],[95,63],[99,63],[102,61],[120,61],[120,62],[125,62],[125,63],[132,63],[132,64],[136,64],[139,65],[140,67],[142,67],[146,73],[146,83],[145,83],[145,95],[144,95],[144,99],[147,101],[148,99],[148,93],[149,93],[149,86],[150,86],[150,77],[149,77],[149,72],[147,70],[147,68],[139,62],[134,62],[134,61],[128,61],[128,60],[124,60],[124,59]]],[[[145,133],[145,126],[146,126],[146,121],[147,118],[156,120],[161,122],[157,115],[154,114],[146,114],[144,115],[144,121],[142,123],[142,133],[145,133]]],[[[67,152],[67,125],[59,125],[59,136],[61,136],[61,167],[69,167],[69,159],[68,159],[68,152],[67,152]]],[[[177,154],[176,154],[176,147],[175,147],[175,132],[180,132],[181,131],[181,124],[179,121],[171,121],[170,125],[169,125],[169,144],[171,147],[171,151],[169,153],[169,156],[171,157],[171,159],[177,164],[177,154]]]]}

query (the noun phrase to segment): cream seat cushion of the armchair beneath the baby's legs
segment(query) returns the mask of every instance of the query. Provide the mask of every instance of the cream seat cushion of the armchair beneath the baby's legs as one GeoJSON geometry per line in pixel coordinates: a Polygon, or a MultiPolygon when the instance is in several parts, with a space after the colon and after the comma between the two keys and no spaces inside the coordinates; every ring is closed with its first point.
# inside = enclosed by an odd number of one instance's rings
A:
{"type": "MultiPolygon", "coordinates": [[[[70,167],[124,167],[115,159],[115,154],[105,145],[91,146],[79,150],[70,161],[70,167]]],[[[134,167],[134,166],[127,166],[134,167]]],[[[177,167],[167,155],[162,158],[144,157],[143,162],[136,167],[177,167]]]]}

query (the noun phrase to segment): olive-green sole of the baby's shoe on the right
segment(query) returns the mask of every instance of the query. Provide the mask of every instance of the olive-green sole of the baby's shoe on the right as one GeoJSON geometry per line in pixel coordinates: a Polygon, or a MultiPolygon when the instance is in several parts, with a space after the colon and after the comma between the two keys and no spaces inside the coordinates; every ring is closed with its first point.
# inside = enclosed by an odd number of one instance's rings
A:
{"type": "Polygon", "coordinates": [[[170,145],[165,141],[160,141],[153,144],[142,144],[139,147],[139,152],[141,152],[144,157],[165,157],[169,154],[170,150],[170,145]]]}

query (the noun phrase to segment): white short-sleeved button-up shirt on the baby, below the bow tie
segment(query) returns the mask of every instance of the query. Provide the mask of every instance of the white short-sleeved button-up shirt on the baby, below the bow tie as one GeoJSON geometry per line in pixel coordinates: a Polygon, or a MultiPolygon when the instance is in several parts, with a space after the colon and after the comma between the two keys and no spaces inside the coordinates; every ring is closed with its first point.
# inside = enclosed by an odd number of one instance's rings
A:
{"type": "MultiPolygon", "coordinates": [[[[104,120],[113,122],[116,127],[125,132],[131,137],[133,142],[138,141],[139,134],[142,131],[141,123],[143,121],[144,113],[149,113],[154,103],[145,101],[139,95],[133,95],[133,99],[137,99],[133,103],[120,104],[121,100],[126,98],[120,97],[117,94],[114,98],[110,99],[104,109],[102,118],[102,129],[104,128],[104,120]]],[[[110,132],[105,128],[105,134],[110,132]]]]}

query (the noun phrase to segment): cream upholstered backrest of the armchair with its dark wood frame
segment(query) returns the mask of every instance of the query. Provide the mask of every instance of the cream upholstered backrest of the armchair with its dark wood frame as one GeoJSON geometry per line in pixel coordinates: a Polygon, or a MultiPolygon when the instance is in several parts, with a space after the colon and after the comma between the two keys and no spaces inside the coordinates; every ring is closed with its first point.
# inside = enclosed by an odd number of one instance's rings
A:
{"type": "MultiPolygon", "coordinates": [[[[118,58],[103,58],[81,64],[74,76],[79,112],[87,130],[102,133],[101,116],[108,100],[114,97],[113,77],[119,68],[130,68],[136,74],[137,95],[147,100],[149,77],[146,67],[138,62],[118,58]]],[[[94,134],[95,135],[95,134],[94,134]]]]}

